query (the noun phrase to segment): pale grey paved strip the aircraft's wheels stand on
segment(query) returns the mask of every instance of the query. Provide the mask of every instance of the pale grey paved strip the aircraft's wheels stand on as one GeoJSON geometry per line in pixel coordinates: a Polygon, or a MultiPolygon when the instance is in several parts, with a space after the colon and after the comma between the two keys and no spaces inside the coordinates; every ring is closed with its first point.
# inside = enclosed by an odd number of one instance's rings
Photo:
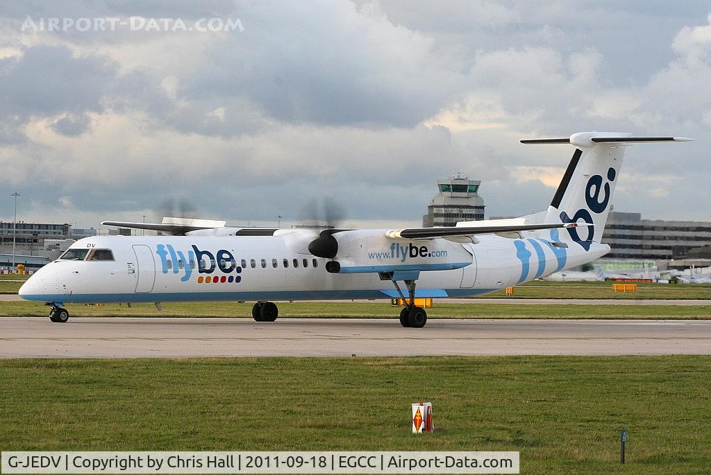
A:
{"type": "Polygon", "coordinates": [[[711,354],[711,321],[0,318],[1,358],[711,354]]]}

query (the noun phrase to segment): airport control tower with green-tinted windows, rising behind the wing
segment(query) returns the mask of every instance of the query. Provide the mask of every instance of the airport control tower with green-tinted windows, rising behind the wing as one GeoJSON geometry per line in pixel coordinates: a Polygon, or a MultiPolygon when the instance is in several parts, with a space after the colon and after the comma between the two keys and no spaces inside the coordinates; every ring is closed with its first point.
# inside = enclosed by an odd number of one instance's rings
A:
{"type": "Polygon", "coordinates": [[[478,193],[480,184],[481,181],[470,180],[459,173],[437,180],[439,193],[427,206],[422,225],[425,228],[454,226],[459,221],[483,220],[484,201],[478,193]]]}

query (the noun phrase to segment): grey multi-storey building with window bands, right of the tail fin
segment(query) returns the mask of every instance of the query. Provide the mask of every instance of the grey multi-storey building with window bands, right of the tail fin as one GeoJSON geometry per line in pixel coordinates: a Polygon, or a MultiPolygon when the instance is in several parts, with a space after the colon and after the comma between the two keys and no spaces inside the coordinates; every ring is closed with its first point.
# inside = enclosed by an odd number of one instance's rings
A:
{"type": "Polygon", "coordinates": [[[688,257],[711,245],[711,223],[642,219],[641,213],[610,211],[602,242],[611,247],[605,258],[670,260],[688,257]]]}

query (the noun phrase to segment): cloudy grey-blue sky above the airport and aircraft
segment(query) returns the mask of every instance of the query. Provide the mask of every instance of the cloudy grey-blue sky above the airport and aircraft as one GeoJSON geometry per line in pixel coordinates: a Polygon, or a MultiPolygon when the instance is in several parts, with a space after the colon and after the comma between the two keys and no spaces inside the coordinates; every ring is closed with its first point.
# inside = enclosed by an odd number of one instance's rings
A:
{"type": "Polygon", "coordinates": [[[418,225],[434,180],[453,171],[481,179],[488,216],[520,215],[546,208],[572,150],[518,140],[597,129],[697,138],[629,149],[613,203],[711,220],[710,11],[3,0],[0,219],[18,191],[19,219],[79,227],[154,220],[166,201],[230,223],[289,223],[316,197],[336,199],[351,225],[418,225]],[[132,16],[172,23],[40,28],[132,16]],[[176,26],[201,18],[242,28],[176,26]]]}

